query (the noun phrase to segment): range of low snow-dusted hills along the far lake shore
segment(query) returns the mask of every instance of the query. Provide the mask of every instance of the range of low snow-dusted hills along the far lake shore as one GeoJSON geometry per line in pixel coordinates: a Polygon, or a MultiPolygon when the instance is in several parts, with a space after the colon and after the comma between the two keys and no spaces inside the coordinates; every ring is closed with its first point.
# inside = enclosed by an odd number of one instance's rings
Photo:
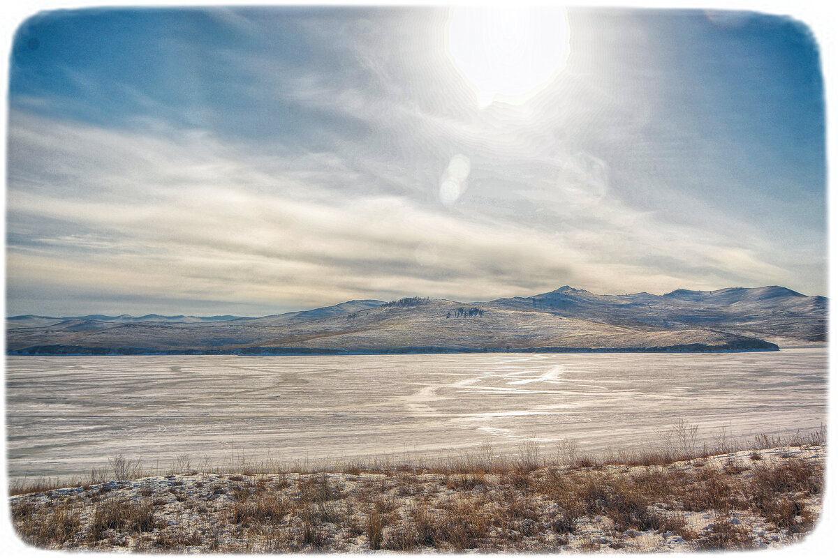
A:
{"type": "Polygon", "coordinates": [[[351,300],[258,318],[7,318],[11,355],[474,351],[773,351],[826,340],[827,299],[784,287],[593,294],[561,287],[488,302],[351,300]]]}

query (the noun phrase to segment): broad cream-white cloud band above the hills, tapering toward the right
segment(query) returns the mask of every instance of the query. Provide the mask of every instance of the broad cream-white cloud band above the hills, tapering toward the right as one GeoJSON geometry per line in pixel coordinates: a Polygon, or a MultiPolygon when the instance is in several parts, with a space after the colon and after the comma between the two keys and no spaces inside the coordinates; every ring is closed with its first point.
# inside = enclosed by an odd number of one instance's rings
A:
{"type": "Polygon", "coordinates": [[[598,168],[590,183],[535,188],[539,208],[552,214],[539,227],[468,199],[452,211],[366,191],[366,177],[334,156],[319,168],[312,159],[266,162],[211,136],[195,149],[189,133],[149,137],[22,116],[11,134],[12,292],[34,281],[165,294],[183,300],[178,313],[197,300],[269,313],[353,298],[489,299],[567,283],[601,292],[712,288],[731,277],[789,275],[752,247],[602,198],[598,168]],[[433,261],[417,250],[432,251],[433,261]]]}

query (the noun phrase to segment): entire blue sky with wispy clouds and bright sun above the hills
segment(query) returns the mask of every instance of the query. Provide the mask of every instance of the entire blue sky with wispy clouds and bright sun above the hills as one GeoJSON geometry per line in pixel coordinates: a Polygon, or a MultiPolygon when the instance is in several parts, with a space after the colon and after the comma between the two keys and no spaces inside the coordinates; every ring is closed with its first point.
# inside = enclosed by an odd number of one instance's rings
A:
{"type": "Polygon", "coordinates": [[[39,13],[9,62],[6,313],[827,294],[820,64],[753,12],[39,13]]]}

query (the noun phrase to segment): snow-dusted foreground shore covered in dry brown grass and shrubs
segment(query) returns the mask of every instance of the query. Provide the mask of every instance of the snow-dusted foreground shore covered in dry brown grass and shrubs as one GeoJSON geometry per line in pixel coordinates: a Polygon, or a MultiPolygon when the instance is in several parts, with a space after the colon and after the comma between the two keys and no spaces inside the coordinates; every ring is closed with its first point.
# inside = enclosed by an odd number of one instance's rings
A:
{"type": "Polygon", "coordinates": [[[669,464],[478,457],[49,489],[12,496],[13,524],[49,549],[648,552],[788,545],[821,511],[820,441],[669,464]]]}

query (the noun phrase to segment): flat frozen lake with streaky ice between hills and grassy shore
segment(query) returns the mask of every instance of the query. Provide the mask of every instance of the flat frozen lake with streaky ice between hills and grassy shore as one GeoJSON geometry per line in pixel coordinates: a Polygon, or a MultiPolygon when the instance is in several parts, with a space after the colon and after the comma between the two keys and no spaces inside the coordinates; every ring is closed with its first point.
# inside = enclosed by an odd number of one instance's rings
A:
{"type": "Polygon", "coordinates": [[[118,453],[168,468],[355,456],[645,447],[827,419],[827,351],[400,356],[12,356],[10,479],[89,474],[118,453]]]}

